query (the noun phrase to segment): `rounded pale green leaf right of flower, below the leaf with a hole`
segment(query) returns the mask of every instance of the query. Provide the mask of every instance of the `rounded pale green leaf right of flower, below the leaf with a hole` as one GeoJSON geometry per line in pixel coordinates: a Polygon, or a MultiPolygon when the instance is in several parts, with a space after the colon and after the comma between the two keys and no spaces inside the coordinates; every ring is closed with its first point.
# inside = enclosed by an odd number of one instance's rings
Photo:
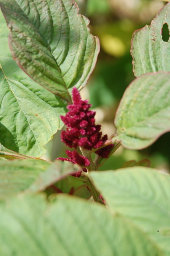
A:
{"type": "Polygon", "coordinates": [[[115,116],[118,141],[131,149],[150,146],[170,131],[170,73],[142,75],[126,89],[115,116]]]}

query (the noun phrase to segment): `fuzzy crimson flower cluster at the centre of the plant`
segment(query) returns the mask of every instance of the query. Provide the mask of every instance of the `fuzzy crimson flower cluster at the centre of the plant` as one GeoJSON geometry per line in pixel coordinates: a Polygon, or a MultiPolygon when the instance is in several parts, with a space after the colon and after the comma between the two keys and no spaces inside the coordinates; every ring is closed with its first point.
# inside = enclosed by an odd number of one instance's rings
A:
{"type": "MultiPolygon", "coordinates": [[[[72,90],[72,96],[73,104],[67,106],[69,112],[65,116],[61,115],[61,120],[67,126],[67,130],[61,133],[61,141],[71,148],[80,146],[85,150],[92,150],[93,148],[102,147],[107,140],[107,135],[102,137],[101,125],[95,124],[96,112],[89,110],[92,105],[88,103],[88,100],[81,100],[80,93],[75,87],[72,90]]],[[[100,148],[96,151],[96,154],[102,156],[102,158],[108,158],[113,146],[114,144],[109,144],[100,148]]],[[[67,150],[66,152],[69,158],[59,159],[69,160],[81,166],[90,165],[89,159],[79,155],[77,151],[67,150]]]]}

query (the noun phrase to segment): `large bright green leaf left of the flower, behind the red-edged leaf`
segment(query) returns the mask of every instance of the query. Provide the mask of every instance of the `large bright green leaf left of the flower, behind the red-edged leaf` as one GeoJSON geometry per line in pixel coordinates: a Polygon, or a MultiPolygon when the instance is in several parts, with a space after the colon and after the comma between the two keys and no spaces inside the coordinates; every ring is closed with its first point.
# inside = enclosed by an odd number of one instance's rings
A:
{"type": "Polygon", "coordinates": [[[45,154],[44,145],[63,127],[59,97],[34,82],[16,65],[8,46],[9,30],[0,13],[0,143],[30,156],[45,154]]]}

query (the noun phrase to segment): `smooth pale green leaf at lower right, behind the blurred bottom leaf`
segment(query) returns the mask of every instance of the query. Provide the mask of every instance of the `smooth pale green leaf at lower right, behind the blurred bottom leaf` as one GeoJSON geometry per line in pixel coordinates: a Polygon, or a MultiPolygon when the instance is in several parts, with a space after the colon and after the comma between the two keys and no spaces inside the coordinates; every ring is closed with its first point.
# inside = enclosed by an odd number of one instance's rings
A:
{"type": "Polygon", "coordinates": [[[151,168],[130,167],[117,172],[90,172],[90,176],[111,212],[138,229],[160,255],[170,255],[169,175],[151,168]]]}

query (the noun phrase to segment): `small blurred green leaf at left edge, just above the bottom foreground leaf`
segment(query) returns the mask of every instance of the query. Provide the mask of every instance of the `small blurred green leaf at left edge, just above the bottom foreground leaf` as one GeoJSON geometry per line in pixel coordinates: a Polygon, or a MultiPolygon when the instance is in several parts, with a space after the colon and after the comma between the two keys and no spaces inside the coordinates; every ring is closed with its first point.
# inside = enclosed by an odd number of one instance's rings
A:
{"type": "Polygon", "coordinates": [[[26,159],[2,161],[0,164],[0,199],[16,195],[30,187],[41,172],[51,163],[44,160],[26,159]]]}

